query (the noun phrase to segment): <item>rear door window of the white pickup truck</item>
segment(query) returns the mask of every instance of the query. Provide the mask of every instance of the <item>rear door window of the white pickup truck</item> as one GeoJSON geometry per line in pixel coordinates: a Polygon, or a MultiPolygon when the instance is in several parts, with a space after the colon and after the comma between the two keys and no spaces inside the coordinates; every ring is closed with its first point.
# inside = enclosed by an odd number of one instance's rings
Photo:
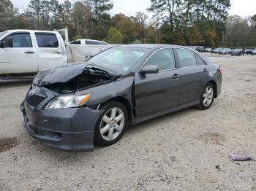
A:
{"type": "Polygon", "coordinates": [[[36,38],[38,47],[59,47],[59,42],[55,34],[36,34],[36,38]]]}

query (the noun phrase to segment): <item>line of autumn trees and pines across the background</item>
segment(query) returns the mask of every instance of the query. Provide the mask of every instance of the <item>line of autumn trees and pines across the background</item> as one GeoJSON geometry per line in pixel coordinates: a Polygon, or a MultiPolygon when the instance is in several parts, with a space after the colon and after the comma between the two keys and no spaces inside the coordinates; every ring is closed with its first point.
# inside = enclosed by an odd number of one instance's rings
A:
{"type": "Polygon", "coordinates": [[[119,44],[256,46],[255,17],[228,17],[230,0],[151,0],[148,12],[111,16],[110,0],[31,0],[19,13],[10,0],[0,1],[0,31],[12,28],[69,28],[70,39],[88,38],[119,44]],[[156,39],[157,28],[157,39],[156,39]]]}

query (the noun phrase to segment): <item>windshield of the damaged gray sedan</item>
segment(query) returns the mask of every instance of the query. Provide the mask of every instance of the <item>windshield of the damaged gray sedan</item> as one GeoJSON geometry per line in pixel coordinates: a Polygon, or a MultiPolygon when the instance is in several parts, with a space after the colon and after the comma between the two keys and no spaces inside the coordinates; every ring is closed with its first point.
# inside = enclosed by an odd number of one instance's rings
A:
{"type": "Polygon", "coordinates": [[[117,71],[123,74],[125,71],[132,69],[132,66],[145,55],[148,51],[146,48],[137,47],[113,47],[109,50],[95,55],[89,60],[99,66],[117,71]]]}

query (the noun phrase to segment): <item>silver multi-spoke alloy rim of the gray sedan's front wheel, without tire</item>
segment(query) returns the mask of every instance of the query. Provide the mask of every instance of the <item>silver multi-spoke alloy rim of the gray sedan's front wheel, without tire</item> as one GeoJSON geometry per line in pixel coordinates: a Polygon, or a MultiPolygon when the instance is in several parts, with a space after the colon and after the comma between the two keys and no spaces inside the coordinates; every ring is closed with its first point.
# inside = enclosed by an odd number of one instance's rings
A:
{"type": "Polygon", "coordinates": [[[106,112],[100,122],[100,135],[105,141],[118,138],[124,128],[124,112],[114,107],[106,112]]]}

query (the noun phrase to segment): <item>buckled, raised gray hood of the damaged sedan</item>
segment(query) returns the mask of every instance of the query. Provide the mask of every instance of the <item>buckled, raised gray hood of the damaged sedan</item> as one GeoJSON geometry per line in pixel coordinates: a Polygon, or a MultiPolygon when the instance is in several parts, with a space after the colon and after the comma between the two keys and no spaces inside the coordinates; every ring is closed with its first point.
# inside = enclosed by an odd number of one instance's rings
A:
{"type": "Polygon", "coordinates": [[[66,83],[70,79],[77,77],[82,74],[86,69],[100,69],[102,71],[107,71],[110,76],[116,77],[120,76],[120,74],[102,68],[101,66],[94,65],[91,63],[73,63],[67,64],[65,66],[59,66],[54,69],[48,69],[45,71],[39,71],[37,76],[34,78],[33,85],[34,86],[45,86],[52,85],[55,83],[66,83]]]}

